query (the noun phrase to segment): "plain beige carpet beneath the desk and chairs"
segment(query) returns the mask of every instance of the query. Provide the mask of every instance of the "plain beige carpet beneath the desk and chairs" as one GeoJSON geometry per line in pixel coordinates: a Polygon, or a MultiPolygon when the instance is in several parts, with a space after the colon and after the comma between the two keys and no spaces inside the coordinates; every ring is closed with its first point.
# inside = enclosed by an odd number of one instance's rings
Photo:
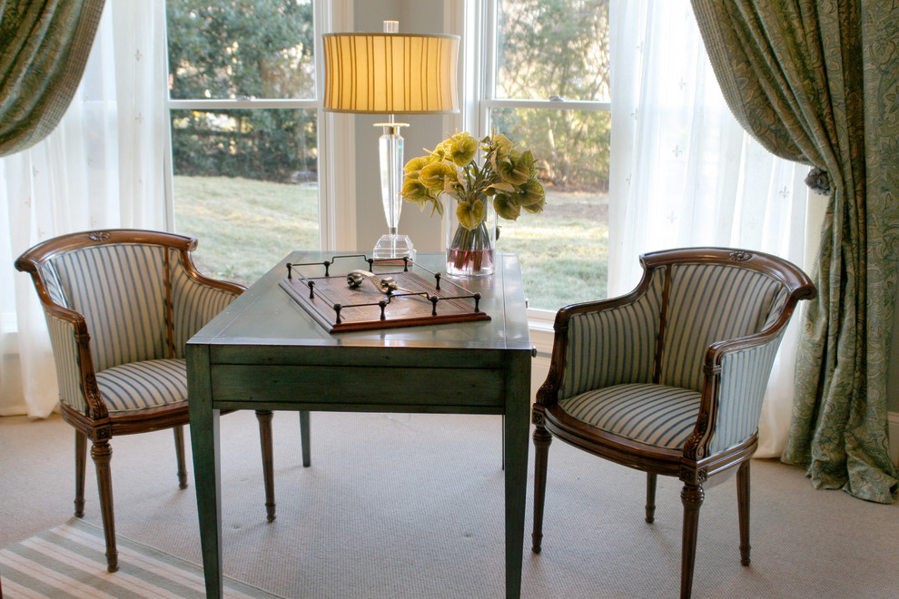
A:
{"type": "MultiPolygon", "coordinates": [[[[278,519],[267,524],[255,418],[222,417],[225,574],[285,597],[503,595],[499,417],[313,413],[310,468],[296,414],[277,413],[274,431],[278,519]]],[[[73,447],[58,417],[0,418],[0,546],[71,517],[73,447]]],[[[118,532],[199,563],[193,487],[177,489],[173,456],[169,431],[114,439],[118,532]]],[[[659,480],[647,525],[641,473],[558,441],[549,459],[543,552],[522,548],[522,596],[677,596],[677,481],[659,480]]],[[[752,480],[752,565],[739,563],[731,478],[706,493],[694,597],[899,596],[899,505],[815,491],[770,460],[754,461],[752,480]]],[[[99,524],[90,466],[87,502],[99,524]]]]}

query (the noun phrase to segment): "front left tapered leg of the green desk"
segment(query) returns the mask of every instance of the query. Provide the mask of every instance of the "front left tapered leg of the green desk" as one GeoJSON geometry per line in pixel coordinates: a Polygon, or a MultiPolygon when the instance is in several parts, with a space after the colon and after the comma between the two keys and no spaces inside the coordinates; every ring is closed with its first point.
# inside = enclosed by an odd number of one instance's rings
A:
{"type": "Polygon", "coordinates": [[[200,545],[206,596],[222,597],[222,493],[219,470],[219,410],[212,409],[209,348],[187,346],[193,481],[200,516],[200,545]]]}

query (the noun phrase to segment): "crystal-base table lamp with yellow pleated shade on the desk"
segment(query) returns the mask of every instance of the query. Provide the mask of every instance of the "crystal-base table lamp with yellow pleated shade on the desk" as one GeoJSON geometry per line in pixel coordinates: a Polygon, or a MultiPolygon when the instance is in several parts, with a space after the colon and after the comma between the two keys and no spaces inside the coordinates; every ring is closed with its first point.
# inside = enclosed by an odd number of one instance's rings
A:
{"type": "Polygon", "coordinates": [[[408,235],[400,235],[403,140],[395,114],[458,113],[458,35],[400,34],[399,22],[384,21],[381,34],[324,34],[324,110],[389,114],[379,140],[380,190],[387,230],[373,257],[415,257],[408,235]]]}

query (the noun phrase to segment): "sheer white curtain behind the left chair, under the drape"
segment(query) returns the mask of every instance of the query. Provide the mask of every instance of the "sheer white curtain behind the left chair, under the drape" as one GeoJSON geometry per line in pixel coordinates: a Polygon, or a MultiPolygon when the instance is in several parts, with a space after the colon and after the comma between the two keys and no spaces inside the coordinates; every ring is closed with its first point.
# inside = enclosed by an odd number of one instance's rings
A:
{"type": "Polygon", "coordinates": [[[13,262],[40,241],[111,227],[163,229],[162,2],[108,0],[81,87],[54,133],[0,159],[0,415],[57,400],[34,286],[13,262]]]}

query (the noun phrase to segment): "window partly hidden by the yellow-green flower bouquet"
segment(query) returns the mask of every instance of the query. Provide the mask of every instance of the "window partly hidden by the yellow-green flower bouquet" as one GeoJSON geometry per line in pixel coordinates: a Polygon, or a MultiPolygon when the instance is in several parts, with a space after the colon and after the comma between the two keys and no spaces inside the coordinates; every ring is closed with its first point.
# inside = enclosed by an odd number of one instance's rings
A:
{"type": "Polygon", "coordinates": [[[607,294],[608,0],[486,3],[483,131],[538,158],[547,203],[500,220],[499,248],[519,255],[532,309],[607,294]]]}

